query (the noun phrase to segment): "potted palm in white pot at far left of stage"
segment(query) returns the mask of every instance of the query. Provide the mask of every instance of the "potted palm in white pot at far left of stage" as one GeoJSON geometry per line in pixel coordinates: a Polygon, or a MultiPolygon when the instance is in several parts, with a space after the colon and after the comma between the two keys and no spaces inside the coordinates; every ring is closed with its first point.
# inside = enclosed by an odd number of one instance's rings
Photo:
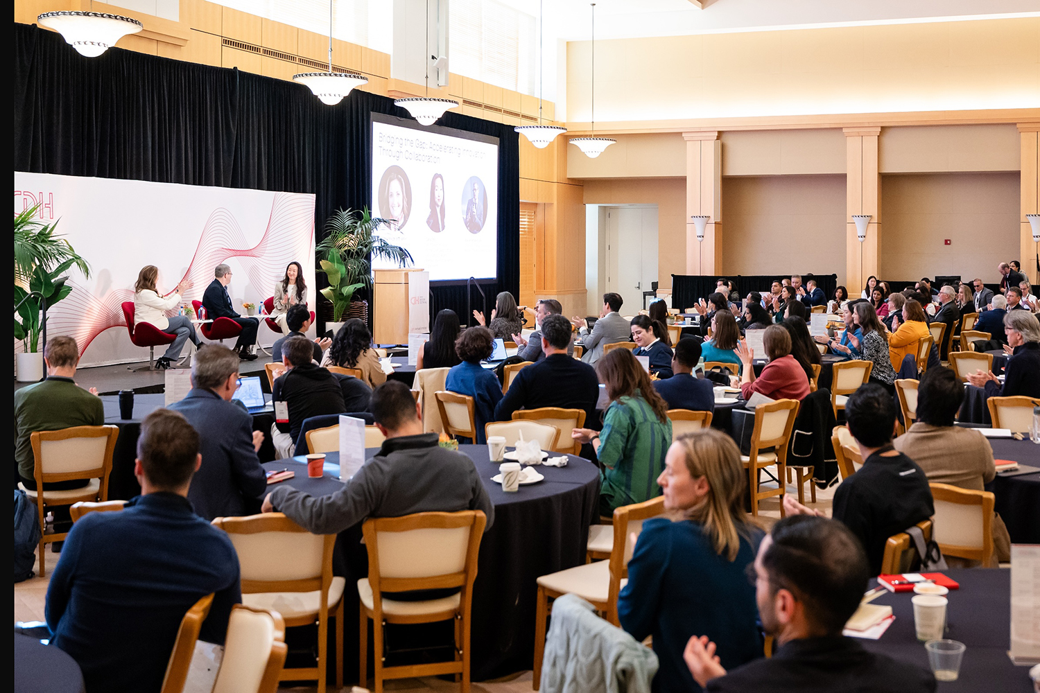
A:
{"type": "Polygon", "coordinates": [[[23,347],[16,363],[18,379],[23,382],[43,377],[41,312],[72,292],[64,272],[76,266],[83,276],[90,275],[87,262],[69,241],[54,233],[57,221],[48,224],[33,218],[38,210],[36,205],[15,216],[15,339],[23,347]]]}

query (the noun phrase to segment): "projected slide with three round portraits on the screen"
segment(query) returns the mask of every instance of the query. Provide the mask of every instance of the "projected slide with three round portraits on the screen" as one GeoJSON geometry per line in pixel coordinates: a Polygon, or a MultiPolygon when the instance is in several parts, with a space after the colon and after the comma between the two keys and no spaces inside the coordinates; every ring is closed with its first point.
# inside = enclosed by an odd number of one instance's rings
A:
{"type": "Polygon", "coordinates": [[[431,282],[497,278],[498,138],[372,113],[371,209],[431,282]]]}

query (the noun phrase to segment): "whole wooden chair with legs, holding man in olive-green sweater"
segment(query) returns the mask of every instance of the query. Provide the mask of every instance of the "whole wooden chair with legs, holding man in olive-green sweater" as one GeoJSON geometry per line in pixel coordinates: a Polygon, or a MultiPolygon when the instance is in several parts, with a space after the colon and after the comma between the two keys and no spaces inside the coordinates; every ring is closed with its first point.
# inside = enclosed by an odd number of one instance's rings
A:
{"type": "Polygon", "coordinates": [[[73,426],[56,431],[34,431],[29,435],[34,463],[32,476],[36,489],[18,487],[36,504],[40,522],[40,577],[47,575],[47,544],[63,541],[68,532],[46,534],[47,509],[51,506],[73,505],[79,501],[108,500],[108,475],[112,471],[112,453],[120,429],[116,426],[73,426]],[[47,490],[44,484],[54,481],[87,480],[82,488],[47,490]]]}

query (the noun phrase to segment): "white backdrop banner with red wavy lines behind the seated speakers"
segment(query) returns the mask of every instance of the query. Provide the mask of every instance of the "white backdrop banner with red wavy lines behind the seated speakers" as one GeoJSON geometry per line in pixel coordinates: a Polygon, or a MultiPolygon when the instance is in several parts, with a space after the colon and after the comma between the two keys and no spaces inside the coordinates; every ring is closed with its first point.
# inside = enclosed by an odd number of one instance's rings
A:
{"type": "MultiPolygon", "coordinates": [[[[163,294],[190,279],[193,286],[183,296],[190,305],[202,300],[213,268],[228,264],[228,291],[245,315],[242,303],[256,303],[259,313],[286,266],[296,261],[314,310],[313,194],[16,171],[15,212],[37,203],[43,206],[36,218],[59,220],[56,233],[90,265],[88,279],[71,270],[72,293],[47,313],[49,336],[76,339],[80,366],[148,359],[147,348],[130,343],[121,305],[133,300],[146,265],[159,268],[163,294]]],[[[268,345],[280,335],[261,318],[258,337],[268,345]]],[[[15,349],[21,351],[22,343],[15,349]]]]}

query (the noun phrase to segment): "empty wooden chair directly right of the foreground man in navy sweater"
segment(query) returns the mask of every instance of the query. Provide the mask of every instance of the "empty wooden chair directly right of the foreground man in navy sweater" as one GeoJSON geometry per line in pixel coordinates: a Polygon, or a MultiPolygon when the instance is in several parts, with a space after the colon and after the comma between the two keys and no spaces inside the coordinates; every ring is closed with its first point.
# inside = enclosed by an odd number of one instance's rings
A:
{"type": "Polygon", "coordinates": [[[228,533],[238,554],[242,604],[277,612],[285,625],[317,623],[317,661],[313,667],[282,669],[279,681],[314,681],[326,693],[329,617],[335,611],[336,688],[343,687],[343,588],[332,575],[335,534],[311,534],[281,512],[212,522],[228,533]]]}

